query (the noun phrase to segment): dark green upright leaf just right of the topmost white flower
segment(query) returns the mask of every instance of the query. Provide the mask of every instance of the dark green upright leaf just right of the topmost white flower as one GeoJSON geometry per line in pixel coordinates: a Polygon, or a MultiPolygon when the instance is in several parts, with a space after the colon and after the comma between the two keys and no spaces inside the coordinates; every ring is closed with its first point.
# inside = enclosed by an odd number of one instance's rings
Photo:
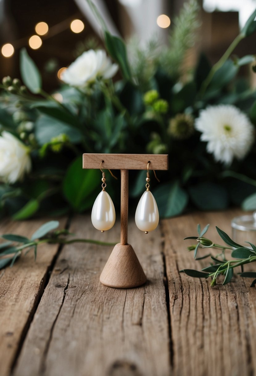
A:
{"type": "Polygon", "coordinates": [[[131,80],[131,69],[127,59],[126,46],[122,39],[105,31],[105,45],[109,55],[118,63],[123,77],[131,80]]]}

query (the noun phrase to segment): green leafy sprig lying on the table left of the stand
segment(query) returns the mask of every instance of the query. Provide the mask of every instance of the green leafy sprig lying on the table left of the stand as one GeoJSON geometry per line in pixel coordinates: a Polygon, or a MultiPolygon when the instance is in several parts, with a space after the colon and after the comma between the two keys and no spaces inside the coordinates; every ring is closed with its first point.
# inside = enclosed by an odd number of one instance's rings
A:
{"type": "Polygon", "coordinates": [[[31,238],[27,238],[16,234],[0,235],[2,239],[7,240],[0,244],[0,269],[10,264],[12,267],[15,261],[20,257],[21,253],[26,250],[25,255],[31,250],[34,250],[35,261],[37,255],[37,248],[40,244],[72,244],[72,243],[92,243],[101,246],[114,246],[116,243],[107,243],[92,239],[73,238],[67,239],[67,236],[72,235],[66,229],[55,230],[59,227],[59,221],[49,221],[44,223],[37,229],[31,238]],[[55,230],[55,231],[53,231],[55,230]],[[15,244],[14,244],[15,243],[15,244]],[[8,256],[10,255],[10,256],[8,256]]]}

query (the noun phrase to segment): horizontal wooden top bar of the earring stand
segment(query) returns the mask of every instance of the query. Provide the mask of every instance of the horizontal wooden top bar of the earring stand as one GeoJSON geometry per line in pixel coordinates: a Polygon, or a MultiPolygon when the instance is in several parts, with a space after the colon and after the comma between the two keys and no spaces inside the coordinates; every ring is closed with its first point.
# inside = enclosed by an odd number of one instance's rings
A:
{"type": "Polygon", "coordinates": [[[110,170],[168,170],[168,154],[83,154],[83,168],[110,170]]]}

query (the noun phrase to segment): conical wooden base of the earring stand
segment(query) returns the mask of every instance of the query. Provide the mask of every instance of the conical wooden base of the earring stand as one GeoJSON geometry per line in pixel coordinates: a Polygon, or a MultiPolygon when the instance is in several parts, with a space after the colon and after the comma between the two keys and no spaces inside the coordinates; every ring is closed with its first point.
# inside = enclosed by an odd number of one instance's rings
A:
{"type": "Polygon", "coordinates": [[[145,284],[147,278],[130,244],[114,246],[99,278],[105,286],[116,288],[137,287],[145,284]]]}

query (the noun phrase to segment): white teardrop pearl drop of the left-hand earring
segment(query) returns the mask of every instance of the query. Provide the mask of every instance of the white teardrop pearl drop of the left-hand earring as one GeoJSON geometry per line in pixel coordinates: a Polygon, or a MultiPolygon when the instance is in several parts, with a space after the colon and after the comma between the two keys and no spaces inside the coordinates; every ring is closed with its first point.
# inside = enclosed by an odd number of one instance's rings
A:
{"type": "Polygon", "coordinates": [[[101,191],[92,207],[92,224],[97,230],[106,231],[114,226],[116,212],[111,197],[106,191],[101,191]]]}

